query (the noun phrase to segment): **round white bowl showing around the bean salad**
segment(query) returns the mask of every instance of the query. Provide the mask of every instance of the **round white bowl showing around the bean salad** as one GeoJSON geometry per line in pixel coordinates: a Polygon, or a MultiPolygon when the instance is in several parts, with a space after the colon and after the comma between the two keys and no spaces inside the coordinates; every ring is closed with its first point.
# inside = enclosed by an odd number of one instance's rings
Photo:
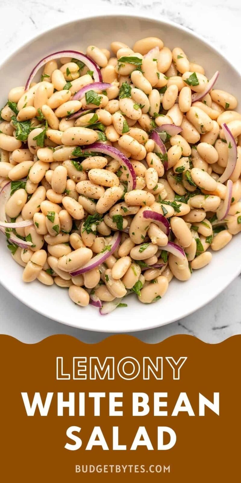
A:
{"type": "MultiPolygon", "coordinates": [[[[238,71],[209,43],[187,28],[147,17],[106,15],[48,30],[16,51],[0,67],[0,105],[6,102],[10,88],[24,85],[33,66],[51,52],[85,51],[89,44],[108,48],[114,40],[132,46],[137,39],[149,36],[161,38],[171,49],[180,45],[189,59],[203,65],[208,78],[214,71],[220,71],[216,87],[240,98],[238,71]]],[[[188,282],[173,280],[160,301],[145,305],[134,295],[129,296],[128,308],[101,316],[92,306],[82,309],[75,305],[67,289],[56,285],[47,287],[39,282],[24,284],[23,269],[13,261],[1,234],[0,258],[0,283],[28,307],[63,324],[105,332],[143,330],[181,319],[210,302],[241,272],[240,236],[237,235],[223,250],[213,253],[210,265],[194,272],[188,282]]]]}

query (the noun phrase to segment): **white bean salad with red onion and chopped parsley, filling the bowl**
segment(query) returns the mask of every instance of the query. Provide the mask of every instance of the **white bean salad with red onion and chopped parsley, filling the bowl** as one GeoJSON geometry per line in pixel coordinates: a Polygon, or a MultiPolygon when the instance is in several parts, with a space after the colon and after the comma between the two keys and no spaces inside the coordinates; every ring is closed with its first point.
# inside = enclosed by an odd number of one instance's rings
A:
{"type": "Polygon", "coordinates": [[[55,52],[10,90],[0,231],[24,282],[102,314],[153,303],[241,231],[241,114],[218,76],[149,37],[55,52]]]}

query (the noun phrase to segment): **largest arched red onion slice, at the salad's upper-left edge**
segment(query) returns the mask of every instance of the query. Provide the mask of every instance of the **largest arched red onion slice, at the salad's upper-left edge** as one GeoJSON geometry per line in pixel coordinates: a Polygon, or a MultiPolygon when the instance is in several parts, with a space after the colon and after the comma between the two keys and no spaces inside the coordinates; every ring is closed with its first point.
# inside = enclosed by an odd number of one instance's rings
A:
{"type": "Polygon", "coordinates": [[[60,57],[71,57],[71,58],[76,58],[83,62],[90,71],[93,71],[93,77],[95,82],[101,82],[102,81],[102,75],[101,71],[98,68],[97,64],[95,64],[94,60],[92,60],[90,57],[85,56],[84,54],[81,54],[77,50],[60,50],[59,52],[54,52],[53,54],[49,54],[46,57],[43,57],[38,64],[33,68],[33,70],[30,72],[30,75],[27,79],[27,83],[25,86],[25,90],[29,89],[29,86],[37,74],[38,70],[40,67],[43,67],[47,62],[50,60],[58,59],[60,57]]]}

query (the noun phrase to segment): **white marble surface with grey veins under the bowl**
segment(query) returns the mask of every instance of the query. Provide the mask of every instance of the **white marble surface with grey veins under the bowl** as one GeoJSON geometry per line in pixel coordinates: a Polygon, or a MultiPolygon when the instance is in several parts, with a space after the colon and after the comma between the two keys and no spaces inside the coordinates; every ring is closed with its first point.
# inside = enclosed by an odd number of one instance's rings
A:
{"type": "MultiPolygon", "coordinates": [[[[241,71],[240,0],[0,0],[0,62],[38,32],[82,15],[105,13],[139,14],[168,18],[201,34],[214,44],[241,71]]],[[[154,343],[174,334],[191,334],[217,343],[241,333],[241,278],[206,307],[179,322],[136,335],[154,343]]],[[[63,326],[33,312],[0,286],[0,333],[24,342],[40,341],[65,333],[93,343],[106,337],[63,326]]]]}

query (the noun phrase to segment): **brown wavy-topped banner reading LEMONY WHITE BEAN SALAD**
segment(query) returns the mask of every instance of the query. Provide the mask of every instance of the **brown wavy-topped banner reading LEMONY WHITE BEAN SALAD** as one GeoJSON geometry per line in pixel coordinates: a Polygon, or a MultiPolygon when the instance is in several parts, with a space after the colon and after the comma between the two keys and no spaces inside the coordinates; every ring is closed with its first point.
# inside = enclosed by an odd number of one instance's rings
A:
{"type": "Polygon", "coordinates": [[[0,481],[239,481],[240,347],[0,336],[0,481]]]}

